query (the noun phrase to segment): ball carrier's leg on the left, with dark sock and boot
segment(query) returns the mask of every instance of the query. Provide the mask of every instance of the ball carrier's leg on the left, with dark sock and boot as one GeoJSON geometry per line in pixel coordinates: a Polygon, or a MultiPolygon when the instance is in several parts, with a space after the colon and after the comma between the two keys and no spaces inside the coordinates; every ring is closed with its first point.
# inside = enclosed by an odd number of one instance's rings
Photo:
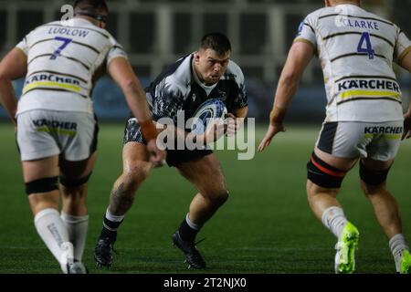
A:
{"type": "Polygon", "coordinates": [[[153,168],[148,162],[147,146],[138,142],[128,142],[122,150],[122,174],[114,183],[110,204],[103,219],[99,241],[94,250],[98,266],[111,266],[117,229],[124,215],[132,207],[137,189],[153,168]]]}

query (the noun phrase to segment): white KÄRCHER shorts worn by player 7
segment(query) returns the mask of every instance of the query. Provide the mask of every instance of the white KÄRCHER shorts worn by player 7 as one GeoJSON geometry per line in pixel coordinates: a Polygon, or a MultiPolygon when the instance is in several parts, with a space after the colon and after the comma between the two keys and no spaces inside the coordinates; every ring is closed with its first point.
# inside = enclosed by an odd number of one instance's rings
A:
{"type": "Polygon", "coordinates": [[[21,161],[55,155],[70,162],[96,151],[99,127],[93,114],[58,110],[29,110],[17,115],[17,144],[21,161]]]}

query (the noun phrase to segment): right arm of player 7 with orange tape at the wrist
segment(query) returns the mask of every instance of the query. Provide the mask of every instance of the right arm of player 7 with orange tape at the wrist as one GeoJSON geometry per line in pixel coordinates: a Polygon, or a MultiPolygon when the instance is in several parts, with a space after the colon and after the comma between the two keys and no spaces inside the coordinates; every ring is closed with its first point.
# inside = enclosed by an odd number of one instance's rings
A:
{"type": "Polygon", "coordinates": [[[108,64],[107,70],[111,78],[121,88],[132,114],[139,121],[142,136],[147,141],[147,148],[151,153],[151,162],[154,165],[162,164],[165,160],[165,151],[159,150],[156,145],[158,131],[154,126],[145,92],[140,80],[134,74],[130,62],[124,57],[115,57],[108,64]]]}

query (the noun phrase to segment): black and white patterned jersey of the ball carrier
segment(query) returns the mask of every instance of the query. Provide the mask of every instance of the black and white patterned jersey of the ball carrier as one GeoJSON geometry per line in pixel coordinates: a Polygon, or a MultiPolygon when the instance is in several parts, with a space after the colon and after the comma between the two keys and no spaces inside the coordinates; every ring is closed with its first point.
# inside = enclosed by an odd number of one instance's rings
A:
{"type": "Polygon", "coordinates": [[[194,53],[180,58],[145,89],[153,120],[167,117],[176,123],[183,112],[187,120],[206,99],[223,100],[228,112],[248,106],[244,75],[235,62],[230,60],[226,73],[208,89],[196,78],[193,62],[194,53]]]}

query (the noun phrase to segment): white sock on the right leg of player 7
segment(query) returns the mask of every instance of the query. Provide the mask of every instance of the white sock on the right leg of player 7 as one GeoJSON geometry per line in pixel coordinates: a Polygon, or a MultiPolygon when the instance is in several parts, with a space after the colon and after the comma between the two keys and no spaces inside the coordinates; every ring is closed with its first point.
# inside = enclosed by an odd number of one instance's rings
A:
{"type": "Polygon", "coordinates": [[[86,245],[89,215],[73,216],[61,212],[61,220],[66,224],[68,239],[74,246],[74,258],[81,262],[86,245]]]}

